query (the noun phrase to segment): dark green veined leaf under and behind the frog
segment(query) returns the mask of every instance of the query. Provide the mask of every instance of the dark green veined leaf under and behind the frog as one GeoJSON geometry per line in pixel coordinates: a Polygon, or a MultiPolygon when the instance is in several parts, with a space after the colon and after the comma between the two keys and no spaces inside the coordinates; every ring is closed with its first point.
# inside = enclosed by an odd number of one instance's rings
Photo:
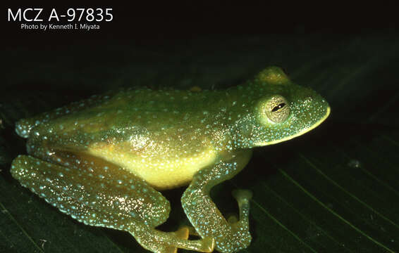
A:
{"type": "MultiPolygon", "coordinates": [[[[223,214],[238,211],[231,190],[253,191],[253,241],[243,252],[398,252],[398,48],[398,38],[379,35],[276,35],[198,39],[190,47],[173,41],[161,49],[106,41],[6,51],[0,252],[146,252],[128,233],[61,214],[11,177],[11,161],[26,153],[13,131],[18,119],[121,86],[232,86],[268,65],[321,93],[331,116],[309,134],[257,148],[247,168],[212,191],[223,214]]],[[[183,190],[165,192],[173,211],[164,231],[188,224],[183,190]]]]}

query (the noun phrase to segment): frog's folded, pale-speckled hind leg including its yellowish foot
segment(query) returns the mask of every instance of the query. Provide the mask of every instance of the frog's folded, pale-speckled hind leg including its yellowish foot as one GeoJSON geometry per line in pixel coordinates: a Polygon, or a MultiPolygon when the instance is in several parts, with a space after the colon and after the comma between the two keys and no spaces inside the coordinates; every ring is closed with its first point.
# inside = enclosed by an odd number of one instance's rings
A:
{"type": "Polygon", "coordinates": [[[13,160],[11,174],[73,219],[128,231],[152,252],[176,252],[177,247],[211,252],[214,240],[186,240],[188,228],[173,233],[154,228],[170,212],[161,193],[120,167],[95,164],[99,162],[68,168],[20,155],[13,160]]]}

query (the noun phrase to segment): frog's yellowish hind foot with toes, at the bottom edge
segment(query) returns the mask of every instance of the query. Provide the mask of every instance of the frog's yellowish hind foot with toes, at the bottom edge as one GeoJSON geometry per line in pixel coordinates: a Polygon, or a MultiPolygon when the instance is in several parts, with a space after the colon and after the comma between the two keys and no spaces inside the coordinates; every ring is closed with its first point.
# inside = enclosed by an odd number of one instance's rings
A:
{"type": "Polygon", "coordinates": [[[133,223],[129,231],[142,247],[157,253],[176,253],[178,248],[197,252],[212,252],[215,245],[214,238],[187,240],[190,233],[188,227],[180,228],[176,232],[166,233],[142,223],[133,223]]]}

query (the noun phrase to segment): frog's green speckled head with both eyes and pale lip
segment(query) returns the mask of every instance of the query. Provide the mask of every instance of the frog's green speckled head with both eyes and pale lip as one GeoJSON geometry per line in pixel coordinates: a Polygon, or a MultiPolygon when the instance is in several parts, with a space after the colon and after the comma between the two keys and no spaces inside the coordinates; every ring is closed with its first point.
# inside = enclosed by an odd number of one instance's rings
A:
{"type": "Polygon", "coordinates": [[[248,86],[254,90],[252,113],[238,127],[242,147],[288,141],[319,126],[330,114],[329,104],[309,88],[290,82],[283,70],[269,67],[248,86]]]}

